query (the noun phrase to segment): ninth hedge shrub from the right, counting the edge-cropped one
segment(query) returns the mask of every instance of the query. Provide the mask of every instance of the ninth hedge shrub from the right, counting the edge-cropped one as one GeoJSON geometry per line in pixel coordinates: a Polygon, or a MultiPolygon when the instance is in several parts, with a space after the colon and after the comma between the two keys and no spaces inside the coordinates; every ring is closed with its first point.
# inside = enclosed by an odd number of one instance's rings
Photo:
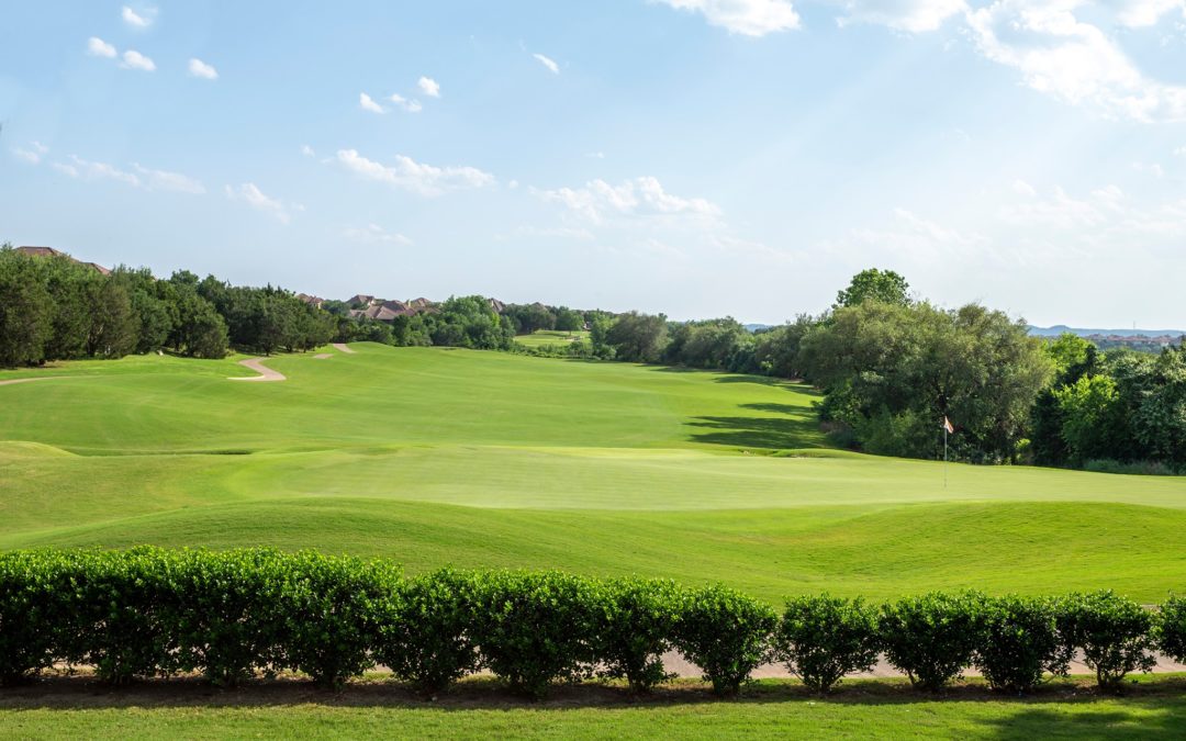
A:
{"type": "Polygon", "coordinates": [[[473,576],[449,569],[401,585],[380,625],[375,659],[425,695],[477,671],[473,590],[473,576]]]}

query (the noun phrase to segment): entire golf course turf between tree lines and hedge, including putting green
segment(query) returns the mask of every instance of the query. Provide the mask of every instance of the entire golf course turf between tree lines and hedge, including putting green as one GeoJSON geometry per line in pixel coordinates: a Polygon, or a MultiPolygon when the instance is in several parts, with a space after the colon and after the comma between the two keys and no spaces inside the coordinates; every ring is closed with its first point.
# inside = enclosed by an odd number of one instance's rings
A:
{"type": "Polygon", "coordinates": [[[1186,592],[1186,479],[825,447],[799,384],[359,344],[0,381],[0,548],[315,547],[803,590],[1186,592]]]}

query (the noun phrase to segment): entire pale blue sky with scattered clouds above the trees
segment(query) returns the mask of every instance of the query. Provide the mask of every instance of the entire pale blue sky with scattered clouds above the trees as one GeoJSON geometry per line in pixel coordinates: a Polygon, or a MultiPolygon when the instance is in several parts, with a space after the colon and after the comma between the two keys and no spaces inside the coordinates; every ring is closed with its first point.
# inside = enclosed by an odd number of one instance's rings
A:
{"type": "Polygon", "coordinates": [[[0,241],[777,322],[1186,328],[1186,0],[11,4],[0,241]]]}

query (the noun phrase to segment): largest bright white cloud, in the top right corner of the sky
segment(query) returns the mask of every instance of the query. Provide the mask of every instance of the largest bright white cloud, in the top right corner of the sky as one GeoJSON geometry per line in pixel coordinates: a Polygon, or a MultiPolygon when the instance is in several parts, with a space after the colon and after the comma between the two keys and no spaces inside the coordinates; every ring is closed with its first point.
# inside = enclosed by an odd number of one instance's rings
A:
{"type": "Polygon", "coordinates": [[[1075,15],[1085,0],[996,0],[967,14],[976,47],[1025,84],[1140,121],[1186,120],[1186,88],[1147,78],[1116,41],[1075,15]]]}

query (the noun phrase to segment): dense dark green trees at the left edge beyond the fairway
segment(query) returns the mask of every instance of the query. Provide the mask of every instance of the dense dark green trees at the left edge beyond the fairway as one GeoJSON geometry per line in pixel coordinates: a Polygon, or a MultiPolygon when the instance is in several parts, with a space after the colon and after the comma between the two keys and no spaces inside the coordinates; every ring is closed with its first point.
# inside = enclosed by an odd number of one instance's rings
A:
{"type": "Polygon", "coordinates": [[[332,318],[292,293],[231,286],[187,270],[109,274],[64,255],[0,247],[0,366],[120,358],[168,350],[221,358],[230,347],[272,353],[330,341],[332,318]]]}

